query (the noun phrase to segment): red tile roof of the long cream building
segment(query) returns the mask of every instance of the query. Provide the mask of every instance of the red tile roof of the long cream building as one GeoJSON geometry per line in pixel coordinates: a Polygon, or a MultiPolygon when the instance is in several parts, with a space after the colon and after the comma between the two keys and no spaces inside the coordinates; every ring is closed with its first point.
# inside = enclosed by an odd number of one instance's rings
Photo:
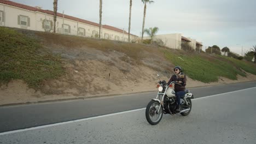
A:
{"type": "MultiPolygon", "coordinates": [[[[51,10],[39,9],[39,8],[31,7],[31,6],[28,6],[28,5],[25,5],[25,4],[15,3],[15,2],[12,2],[12,1],[0,0],[0,3],[11,5],[11,6],[22,8],[22,9],[31,10],[31,11],[40,11],[42,13],[46,13],[46,14],[49,14],[49,15],[54,15],[54,12],[51,11],[51,10]]],[[[57,13],[57,16],[63,17],[63,14],[57,13]]],[[[83,19],[79,19],[77,17],[73,17],[73,16],[69,16],[69,15],[64,15],[64,17],[66,19],[69,19],[69,20],[83,22],[83,23],[86,23],[86,24],[89,24],[89,25],[92,25],[92,26],[97,26],[97,27],[100,26],[98,23],[83,20],[83,19]]],[[[102,27],[106,28],[106,29],[110,29],[112,31],[123,33],[123,29],[119,29],[119,28],[116,28],[116,27],[112,27],[112,26],[108,26],[108,25],[102,25],[102,27]]],[[[128,34],[126,31],[124,31],[124,33],[128,34]]],[[[131,35],[133,35],[133,34],[131,34],[131,35]]],[[[137,35],[134,35],[134,36],[137,37],[137,35]]]]}

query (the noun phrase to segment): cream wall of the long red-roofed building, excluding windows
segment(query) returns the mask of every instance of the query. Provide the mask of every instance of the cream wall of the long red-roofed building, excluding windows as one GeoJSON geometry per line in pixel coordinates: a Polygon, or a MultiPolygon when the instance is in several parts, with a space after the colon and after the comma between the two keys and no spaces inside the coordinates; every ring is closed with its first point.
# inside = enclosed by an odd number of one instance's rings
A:
{"type": "MultiPolygon", "coordinates": [[[[26,9],[21,9],[17,7],[13,7],[10,5],[5,5],[0,3],[0,11],[3,11],[5,13],[5,21],[0,22],[1,26],[7,26],[7,27],[16,27],[16,28],[26,28],[31,29],[34,31],[45,31],[43,28],[43,21],[49,20],[51,22],[53,21],[53,15],[41,13],[39,11],[30,11],[26,9]],[[30,19],[30,26],[24,27],[21,25],[18,25],[18,15],[24,15],[29,17],[30,19]]],[[[96,31],[98,33],[99,28],[97,26],[88,25],[86,23],[77,22],[69,19],[65,19],[65,17],[57,17],[56,21],[56,32],[57,33],[65,33],[65,34],[71,34],[71,35],[78,35],[78,27],[81,27],[85,29],[85,34],[82,35],[83,37],[92,37],[93,31],[96,31]],[[65,33],[62,28],[62,24],[68,25],[70,27],[70,31],[68,33],[65,33]]],[[[49,32],[53,32],[53,27],[49,32]]],[[[128,34],[123,34],[120,32],[112,31],[110,29],[102,28],[102,38],[104,38],[104,34],[109,34],[109,39],[115,40],[115,37],[119,37],[120,41],[128,41],[128,34]]],[[[130,35],[131,40],[137,39],[136,36],[130,35]]]]}

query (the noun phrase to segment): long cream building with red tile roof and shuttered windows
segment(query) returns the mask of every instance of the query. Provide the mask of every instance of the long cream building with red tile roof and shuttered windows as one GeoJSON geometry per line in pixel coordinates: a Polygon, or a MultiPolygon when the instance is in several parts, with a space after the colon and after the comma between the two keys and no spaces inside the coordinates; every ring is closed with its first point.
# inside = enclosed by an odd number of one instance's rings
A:
{"type": "MultiPolygon", "coordinates": [[[[53,32],[53,22],[53,11],[0,0],[0,26],[53,32]]],[[[79,35],[82,37],[98,37],[99,27],[98,23],[57,13],[57,33],[79,35]]],[[[102,25],[101,38],[128,41],[128,33],[123,29],[102,25]]],[[[131,41],[135,41],[137,38],[136,35],[130,34],[131,41]]]]}

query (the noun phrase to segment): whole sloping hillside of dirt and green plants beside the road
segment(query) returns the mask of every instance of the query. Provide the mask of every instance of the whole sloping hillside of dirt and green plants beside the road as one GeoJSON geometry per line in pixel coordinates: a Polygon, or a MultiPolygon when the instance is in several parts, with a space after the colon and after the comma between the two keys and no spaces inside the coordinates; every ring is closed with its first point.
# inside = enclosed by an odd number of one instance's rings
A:
{"type": "Polygon", "coordinates": [[[155,91],[174,65],[188,87],[256,80],[253,63],[154,45],[0,27],[1,104],[155,91]]]}

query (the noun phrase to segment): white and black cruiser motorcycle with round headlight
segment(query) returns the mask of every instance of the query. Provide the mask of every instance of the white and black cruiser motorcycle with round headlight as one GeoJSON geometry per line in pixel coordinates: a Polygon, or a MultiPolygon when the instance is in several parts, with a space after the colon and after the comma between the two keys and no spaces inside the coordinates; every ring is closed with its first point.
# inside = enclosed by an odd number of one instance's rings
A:
{"type": "Polygon", "coordinates": [[[146,108],[148,123],[152,125],[158,124],[162,119],[162,115],[167,113],[170,115],[179,115],[179,113],[181,113],[182,116],[189,115],[192,108],[191,99],[194,98],[193,94],[186,89],[185,95],[181,97],[181,111],[177,112],[176,108],[178,105],[175,92],[172,89],[173,84],[180,85],[174,81],[172,81],[170,85],[167,85],[165,80],[158,82],[158,94],[155,99],[149,101],[146,108]]]}

